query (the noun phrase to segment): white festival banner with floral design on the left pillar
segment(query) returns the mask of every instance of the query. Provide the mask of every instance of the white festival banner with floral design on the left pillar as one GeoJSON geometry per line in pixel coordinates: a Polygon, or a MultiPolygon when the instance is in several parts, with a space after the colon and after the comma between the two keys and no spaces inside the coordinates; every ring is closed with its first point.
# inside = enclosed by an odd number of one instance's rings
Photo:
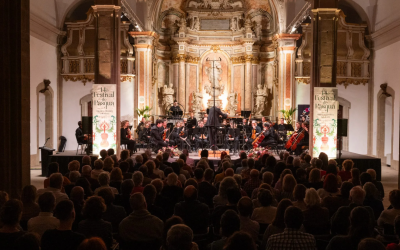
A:
{"type": "Polygon", "coordinates": [[[93,84],[93,154],[113,148],[117,139],[117,85],[93,84]]]}

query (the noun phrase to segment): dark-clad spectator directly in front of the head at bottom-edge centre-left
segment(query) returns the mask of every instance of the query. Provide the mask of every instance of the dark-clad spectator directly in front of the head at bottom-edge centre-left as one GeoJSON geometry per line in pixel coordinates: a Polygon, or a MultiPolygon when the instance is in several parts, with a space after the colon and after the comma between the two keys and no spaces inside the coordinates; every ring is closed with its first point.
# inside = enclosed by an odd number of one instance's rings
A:
{"type": "Polygon", "coordinates": [[[197,190],[192,185],[185,188],[183,198],[184,201],[175,205],[174,215],[181,217],[194,234],[206,234],[210,216],[208,206],[199,202],[197,190]]]}

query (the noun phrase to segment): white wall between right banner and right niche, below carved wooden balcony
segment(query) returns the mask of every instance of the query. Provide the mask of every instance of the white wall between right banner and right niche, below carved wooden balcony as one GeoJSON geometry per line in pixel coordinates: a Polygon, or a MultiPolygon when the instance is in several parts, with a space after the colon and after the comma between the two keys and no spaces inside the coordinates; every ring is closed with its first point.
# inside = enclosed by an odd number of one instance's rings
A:
{"type": "Polygon", "coordinates": [[[348,121],[349,151],[367,154],[368,143],[368,86],[337,85],[338,95],[351,103],[348,121]]]}

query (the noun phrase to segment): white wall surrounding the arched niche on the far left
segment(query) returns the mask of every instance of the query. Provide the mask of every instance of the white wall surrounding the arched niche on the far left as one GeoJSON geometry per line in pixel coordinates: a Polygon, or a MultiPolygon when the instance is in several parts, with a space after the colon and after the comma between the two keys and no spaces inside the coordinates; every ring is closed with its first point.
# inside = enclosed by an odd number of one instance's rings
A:
{"type": "MultiPolygon", "coordinates": [[[[53,147],[57,149],[57,54],[56,48],[33,36],[30,36],[30,132],[31,132],[31,155],[38,152],[37,142],[37,93],[36,88],[43,79],[49,79],[50,87],[54,92],[53,96],[53,147]]],[[[43,94],[42,94],[43,95],[43,94]]],[[[44,121],[44,117],[43,117],[44,121]]]]}

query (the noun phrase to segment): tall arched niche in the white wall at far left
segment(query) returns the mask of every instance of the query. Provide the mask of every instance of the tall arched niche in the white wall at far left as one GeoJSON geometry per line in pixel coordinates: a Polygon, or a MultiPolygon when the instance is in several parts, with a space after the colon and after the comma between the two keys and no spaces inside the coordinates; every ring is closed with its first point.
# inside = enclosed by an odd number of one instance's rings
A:
{"type": "Polygon", "coordinates": [[[39,147],[43,146],[47,138],[50,138],[46,147],[54,148],[53,145],[53,100],[54,91],[51,86],[47,86],[44,93],[40,91],[45,89],[43,82],[36,86],[36,148],[38,160],[40,161],[39,147]]]}

